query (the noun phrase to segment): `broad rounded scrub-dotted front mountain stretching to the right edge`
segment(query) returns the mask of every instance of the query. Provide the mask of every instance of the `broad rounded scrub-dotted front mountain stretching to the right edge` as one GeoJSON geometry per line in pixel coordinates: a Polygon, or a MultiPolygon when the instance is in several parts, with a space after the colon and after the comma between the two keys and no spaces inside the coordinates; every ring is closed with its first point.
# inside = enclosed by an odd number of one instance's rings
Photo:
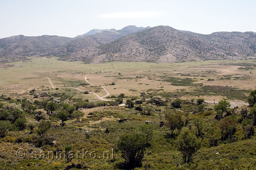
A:
{"type": "Polygon", "coordinates": [[[69,61],[152,61],[159,63],[190,60],[238,60],[256,56],[256,33],[216,32],[209,35],[157,26],[129,34],[97,48],[85,48],[67,57],[69,61]],[[92,53],[93,50],[93,53],[92,53]]]}

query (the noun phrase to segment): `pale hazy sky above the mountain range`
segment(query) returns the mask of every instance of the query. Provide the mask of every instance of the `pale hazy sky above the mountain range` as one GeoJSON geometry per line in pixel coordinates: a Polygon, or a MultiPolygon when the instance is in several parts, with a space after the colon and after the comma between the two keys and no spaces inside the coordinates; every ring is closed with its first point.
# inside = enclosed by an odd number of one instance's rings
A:
{"type": "Polygon", "coordinates": [[[1,0],[0,38],[75,37],[91,29],[171,26],[202,34],[256,32],[255,0],[1,0]]]}

